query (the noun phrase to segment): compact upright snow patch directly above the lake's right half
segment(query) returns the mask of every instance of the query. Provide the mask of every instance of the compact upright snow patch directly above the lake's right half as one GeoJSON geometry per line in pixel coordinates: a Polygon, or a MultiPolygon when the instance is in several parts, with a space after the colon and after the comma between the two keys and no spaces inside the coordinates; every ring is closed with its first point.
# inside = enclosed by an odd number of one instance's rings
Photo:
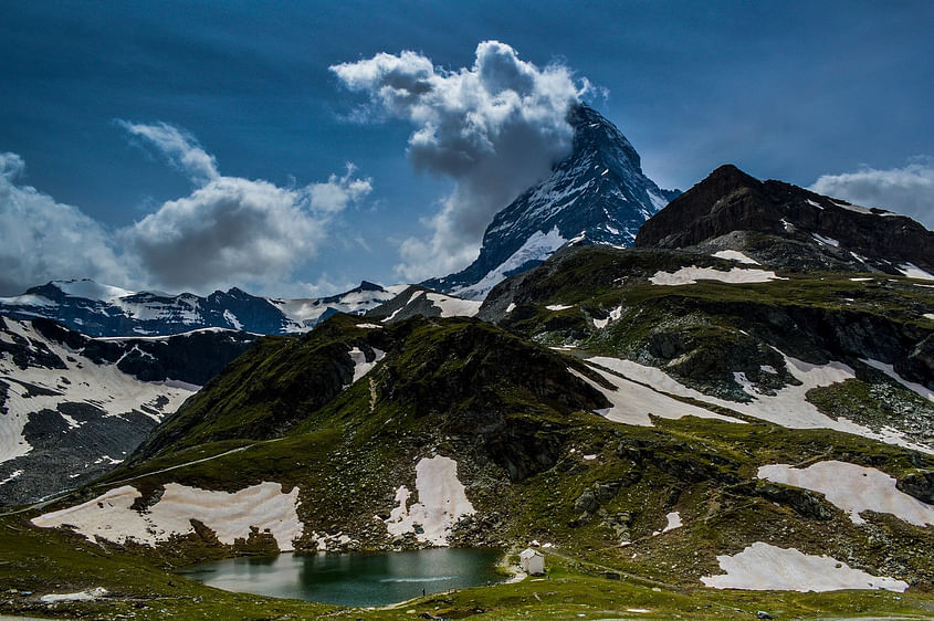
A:
{"type": "Polygon", "coordinates": [[[411,492],[405,485],[396,490],[399,505],[386,519],[386,529],[393,536],[416,533],[419,541],[447,546],[451,528],[475,513],[458,480],[458,462],[440,455],[422,457],[416,465],[416,490],[418,502],[411,506],[411,492]],[[418,533],[416,526],[422,531],[418,533]]]}

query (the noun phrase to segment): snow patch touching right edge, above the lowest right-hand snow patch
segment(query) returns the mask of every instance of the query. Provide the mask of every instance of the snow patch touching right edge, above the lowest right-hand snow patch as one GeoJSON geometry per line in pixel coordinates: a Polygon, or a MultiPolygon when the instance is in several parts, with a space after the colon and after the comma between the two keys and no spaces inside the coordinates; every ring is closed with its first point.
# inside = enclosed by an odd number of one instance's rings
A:
{"type": "Polygon", "coordinates": [[[853,524],[865,524],[864,511],[888,513],[915,526],[934,526],[934,506],[895,487],[895,477],[874,467],[839,461],[818,462],[805,469],[788,464],[759,467],[757,476],[823,494],[846,512],[853,524]]]}

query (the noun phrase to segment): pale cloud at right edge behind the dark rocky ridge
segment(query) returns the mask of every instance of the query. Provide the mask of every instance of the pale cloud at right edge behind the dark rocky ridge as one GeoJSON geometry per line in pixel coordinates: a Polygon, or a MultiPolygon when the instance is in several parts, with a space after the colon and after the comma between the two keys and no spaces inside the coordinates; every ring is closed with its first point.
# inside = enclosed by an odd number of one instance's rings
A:
{"type": "Polygon", "coordinates": [[[854,172],[822,175],[808,188],[865,207],[881,207],[934,229],[934,158],[917,156],[902,168],[863,167],[854,172]]]}

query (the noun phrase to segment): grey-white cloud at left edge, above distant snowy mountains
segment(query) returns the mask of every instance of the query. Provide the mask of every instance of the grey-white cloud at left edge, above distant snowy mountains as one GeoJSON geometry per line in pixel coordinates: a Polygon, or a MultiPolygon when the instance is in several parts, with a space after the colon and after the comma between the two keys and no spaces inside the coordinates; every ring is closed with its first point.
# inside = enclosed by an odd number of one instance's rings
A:
{"type": "Polygon", "coordinates": [[[76,207],[18,185],[24,170],[19,155],[0,154],[0,295],[62,278],[127,284],[109,233],[76,207]]]}

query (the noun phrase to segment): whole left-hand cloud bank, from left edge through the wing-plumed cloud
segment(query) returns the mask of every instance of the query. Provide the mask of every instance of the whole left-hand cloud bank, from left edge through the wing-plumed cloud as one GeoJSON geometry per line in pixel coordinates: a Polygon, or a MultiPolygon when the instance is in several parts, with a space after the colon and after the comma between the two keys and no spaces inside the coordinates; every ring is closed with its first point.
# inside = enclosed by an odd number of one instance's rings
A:
{"type": "Polygon", "coordinates": [[[319,250],[333,219],[372,190],[351,164],[342,176],[298,188],[227,177],[177,127],[119,125],[165,156],[195,189],[112,232],[80,209],[17,185],[22,158],[0,154],[0,295],[70,277],[198,293],[232,284],[267,290],[287,282],[319,250]]]}

